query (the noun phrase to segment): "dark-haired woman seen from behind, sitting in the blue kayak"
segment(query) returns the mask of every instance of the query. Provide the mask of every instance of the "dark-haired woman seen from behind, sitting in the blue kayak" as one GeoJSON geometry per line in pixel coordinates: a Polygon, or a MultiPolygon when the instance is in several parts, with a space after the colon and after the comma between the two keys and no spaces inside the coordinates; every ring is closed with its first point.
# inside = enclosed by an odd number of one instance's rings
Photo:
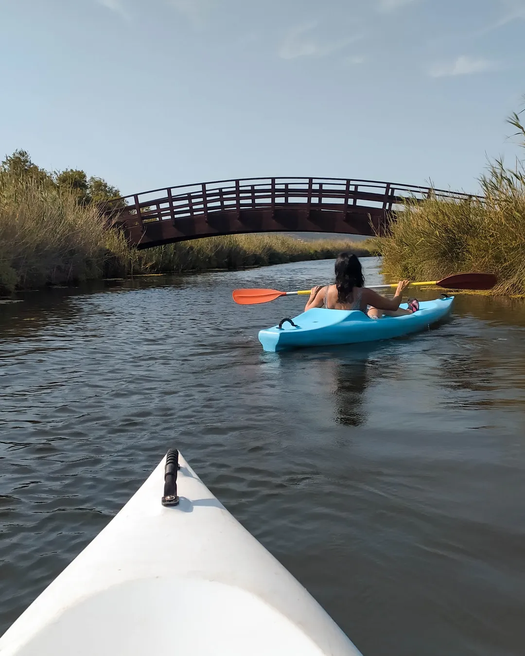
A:
{"type": "Polygon", "coordinates": [[[371,319],[379,319],[384,314],[398,317],[419,310],[419,302],[416,298],[408,299],[408,310],[402,310],[399,307],[402,292],[410,285],[410,280],[398,282],[396,293],[391,300],[381,296],[373,289],[364,287],[364,283],[363,270],[358,258],[352,253],[339,253],[335,260],[335,285],[312,287],[305,312],[310,308],[361,310],[371,319]]]}

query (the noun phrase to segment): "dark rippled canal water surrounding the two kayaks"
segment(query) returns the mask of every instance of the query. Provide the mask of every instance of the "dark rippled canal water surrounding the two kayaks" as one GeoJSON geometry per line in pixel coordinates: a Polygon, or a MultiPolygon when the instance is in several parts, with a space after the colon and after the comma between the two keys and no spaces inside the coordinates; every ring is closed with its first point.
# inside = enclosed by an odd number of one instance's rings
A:
{"type": "Polygon", "coordinates": [[[264,353],[305,299],[232,289],[332,271],[0,304],[0,633],[178,447],[365,656],[525,653],[524,304],[459,296],[410,338],[264,353]]]}

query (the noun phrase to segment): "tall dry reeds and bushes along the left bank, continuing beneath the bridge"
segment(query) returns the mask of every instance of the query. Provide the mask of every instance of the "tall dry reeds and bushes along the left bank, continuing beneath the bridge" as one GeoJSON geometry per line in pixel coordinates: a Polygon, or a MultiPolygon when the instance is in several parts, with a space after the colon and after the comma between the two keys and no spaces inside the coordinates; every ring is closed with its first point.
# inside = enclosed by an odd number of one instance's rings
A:
{"type": "Polygon", "coordinates": [[[303,241],[282,234],[205,237],[144,251],[106,228],[100,204],[120,192],[84,171],[49,173],[25,151],[0,166],[0,292],[145,274],[182,274],[378,255],[378,242],[303,241]]]}

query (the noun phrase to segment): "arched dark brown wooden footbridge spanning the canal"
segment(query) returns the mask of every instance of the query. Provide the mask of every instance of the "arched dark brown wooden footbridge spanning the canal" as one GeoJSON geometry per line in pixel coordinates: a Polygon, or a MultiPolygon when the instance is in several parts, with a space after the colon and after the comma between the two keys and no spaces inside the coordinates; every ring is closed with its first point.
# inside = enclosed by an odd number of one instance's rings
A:
{"type": "Polygon", "coordinates": [[[429,187],[343,178],[242,178],[156,189],[108,211],[138,249],[247,232],[384,234],[407,198],[470,197],[429,187]],[[122,209],[122,205],[125,207],[122,209]]]}

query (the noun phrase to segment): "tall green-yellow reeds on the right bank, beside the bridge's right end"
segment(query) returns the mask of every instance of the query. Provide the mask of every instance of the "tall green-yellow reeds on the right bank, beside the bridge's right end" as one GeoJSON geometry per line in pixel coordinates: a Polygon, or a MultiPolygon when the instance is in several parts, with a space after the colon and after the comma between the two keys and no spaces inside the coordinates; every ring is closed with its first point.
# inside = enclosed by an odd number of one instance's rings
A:
{"type": "MultiPolygon", "coordinates": [[[[518,115],[511,123],[524,138],[518,115]]],[[[496,160],[480,178],[483,201],[411,202],[383,240],[383,271],[435,280],[461,271],[497,274],[494,293],[525,294],[525,169],[496,160]]]]}

